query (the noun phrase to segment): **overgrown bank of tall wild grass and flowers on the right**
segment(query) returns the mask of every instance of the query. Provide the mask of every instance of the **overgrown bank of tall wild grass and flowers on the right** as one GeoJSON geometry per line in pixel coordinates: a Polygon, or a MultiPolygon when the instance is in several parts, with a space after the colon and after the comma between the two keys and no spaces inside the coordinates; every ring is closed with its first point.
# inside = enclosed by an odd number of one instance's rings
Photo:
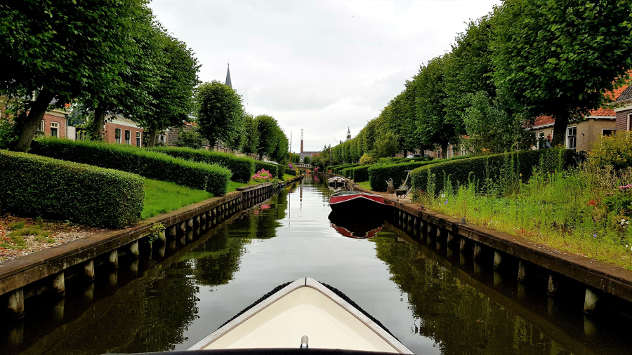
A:
{"type": "MultiPolygon", "coordinates": [[[[632,168],[583,166],[535,173],[511,194],[481,193],[477,182],[444,186],[438,196],[416,192],[426,208],[544,246],[632,269],[632,168]]],[[[501,182],[499,182],[501,183],[501,182]]]]}

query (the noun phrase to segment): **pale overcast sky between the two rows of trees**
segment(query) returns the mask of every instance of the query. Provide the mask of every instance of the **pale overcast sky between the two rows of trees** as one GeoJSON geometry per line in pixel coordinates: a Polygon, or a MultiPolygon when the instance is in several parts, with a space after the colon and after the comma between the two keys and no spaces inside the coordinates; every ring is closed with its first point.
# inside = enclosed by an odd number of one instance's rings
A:
{"type": "Polygon", "coordinates": [[[195,51],[202,81],[226,79],[246,111],[279,121],[292,151],[355,137],[419,65],[450,50],[499,0],[153,0],[195,51]],[[336,140],[334,140],[336,138],[336,140]]]}

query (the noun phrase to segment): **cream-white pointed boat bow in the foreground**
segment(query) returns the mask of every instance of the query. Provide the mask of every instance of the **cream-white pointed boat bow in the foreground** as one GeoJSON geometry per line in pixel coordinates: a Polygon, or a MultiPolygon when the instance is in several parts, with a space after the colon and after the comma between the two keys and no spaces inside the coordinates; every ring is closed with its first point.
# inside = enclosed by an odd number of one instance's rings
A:
{"type": "Polygon", "coordinates": [[[268,354],[270,349],[305,347],[322,354],[412,354],[340,291],[308,277],[279,286],[189,350],[268,354]]]}

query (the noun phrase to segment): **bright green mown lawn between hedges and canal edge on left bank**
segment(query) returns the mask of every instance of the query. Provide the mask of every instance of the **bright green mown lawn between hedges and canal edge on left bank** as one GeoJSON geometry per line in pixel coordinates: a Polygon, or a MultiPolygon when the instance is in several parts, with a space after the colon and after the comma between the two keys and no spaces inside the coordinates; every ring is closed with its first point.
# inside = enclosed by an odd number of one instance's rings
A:
{"type": "MultiPolygon", "coordinates": [[[[233,192],[237,187],[246,186],[242,182],[228,182],[228,192],[233,192]]],[[[140,217],[145,220],[154,215],[177,210],[214,197],[210,192],[190,189],[176,185],[173,182],[145,179],[145,206],[140,217]]]]}

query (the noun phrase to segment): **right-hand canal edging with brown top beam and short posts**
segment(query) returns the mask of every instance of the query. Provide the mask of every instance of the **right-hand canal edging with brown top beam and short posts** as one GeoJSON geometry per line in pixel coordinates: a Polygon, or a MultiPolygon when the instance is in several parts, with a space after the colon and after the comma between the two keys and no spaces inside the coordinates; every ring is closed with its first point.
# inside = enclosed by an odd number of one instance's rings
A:
{"type": "MultiPolygon", "coordinates": [[[[375,193],[346,180],[346,186],[353,191],[375,193]]],[[[600,297],[604,295],[632,304],[632,271],[628,269],[542,246],[520,236],[470,225],[464,220],[422,210],[419,205],[401,203],[395,197],[383,197],[387,205],[386,213],[391,214],[390,217],[402,229],[419,232],[421,239],[426,239],[428,244],[436,241],[437,245],[443,244],[445,248],[455,246],[462,252],[472,252],[474,259],[487,255],[494,269],[503,267],[503,257],[513,257],[518,260],[518,281],[524,281],[532,267],[544,269],[548,273],[546,293],[549,296],[558,293],[559,281],[564,278],[581,283],[585,286],[583,297],[586,314],[595,312],[600,297]]]]}

